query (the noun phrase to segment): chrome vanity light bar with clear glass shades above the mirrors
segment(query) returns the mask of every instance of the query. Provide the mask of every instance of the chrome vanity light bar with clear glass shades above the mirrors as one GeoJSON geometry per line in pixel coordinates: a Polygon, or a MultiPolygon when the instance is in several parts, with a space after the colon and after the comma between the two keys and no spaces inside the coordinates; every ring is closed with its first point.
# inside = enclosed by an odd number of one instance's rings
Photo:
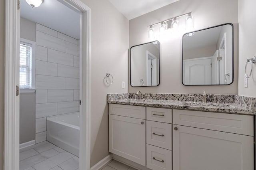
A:
{"type": "MultiPolygon", "coordinates": [[[[185,20],[186,29],[193,28],[194,27],[194,18],[192,16],[192,12],[188,12],[186,14],[182,14],[180,16],[176,16],[176,17],[170,18],[168,20],[164,20],[164,21],[158,22],[156,24],[150,25],[149,29],[148,29],[148,38],[151,38],[151,39],[155,38],[153,27],[157,26],[157,25],[159,26],[158,28],[159,28],[160,35],[162,33],[164,33],[165,30],[169,30],[169,29],[172,29],[174,31],[178,31],[179,30],[179,21],[177,19],[181,18],[181,17],[184,17],[184,16],[186,16],[186,20],[185,20]]],[[[158,28],[156,29],[157,31],[158,31],[158,28]]],[[[157,35],[158,34],[156,34],[156,36],[157,35]]]]}

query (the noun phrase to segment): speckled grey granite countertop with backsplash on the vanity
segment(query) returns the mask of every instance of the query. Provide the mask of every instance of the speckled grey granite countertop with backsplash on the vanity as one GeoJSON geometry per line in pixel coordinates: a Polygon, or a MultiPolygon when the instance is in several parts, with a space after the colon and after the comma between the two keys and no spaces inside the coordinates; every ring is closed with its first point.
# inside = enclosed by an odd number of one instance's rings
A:
{"type": "Polygon", "coordinates": [[[256,114],[256,98],[254,97],[238,95],[207,95],[207,103],[202,103],[202,95],[200,94],[143,93],[142,100],[134,100],[133,95],[134,93],[108,94],[107,102],[122,105],[162,107],[242,115],[256,114]],[[144,100],[147,95],[148,99],[144,100]],[[189,96],[195,96],[198,102],[192,102],[192,98],[189,96]],[[213,98],[216,96],[220,96],[222,99],[217,100],[219,103],[212,103],[213,98]]]}

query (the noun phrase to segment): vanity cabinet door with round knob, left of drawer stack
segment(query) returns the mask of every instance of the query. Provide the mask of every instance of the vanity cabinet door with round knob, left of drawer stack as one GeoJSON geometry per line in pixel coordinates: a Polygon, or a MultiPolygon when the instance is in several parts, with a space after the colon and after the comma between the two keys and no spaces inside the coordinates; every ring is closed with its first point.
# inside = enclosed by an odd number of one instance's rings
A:
{"type": "Polygon", "coordinates": [[[146,166],[146,121],[109,115],[109,152],[146,166]]]}

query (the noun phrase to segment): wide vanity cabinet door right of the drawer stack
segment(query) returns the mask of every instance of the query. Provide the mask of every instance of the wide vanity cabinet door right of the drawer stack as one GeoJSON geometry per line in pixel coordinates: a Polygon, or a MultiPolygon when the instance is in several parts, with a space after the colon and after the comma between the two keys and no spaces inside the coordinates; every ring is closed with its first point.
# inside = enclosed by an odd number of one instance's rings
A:
{"type": "Polygon", "coordinates": [[[253,168],[253,136],[173,125],[174,170],[253,168]]]}

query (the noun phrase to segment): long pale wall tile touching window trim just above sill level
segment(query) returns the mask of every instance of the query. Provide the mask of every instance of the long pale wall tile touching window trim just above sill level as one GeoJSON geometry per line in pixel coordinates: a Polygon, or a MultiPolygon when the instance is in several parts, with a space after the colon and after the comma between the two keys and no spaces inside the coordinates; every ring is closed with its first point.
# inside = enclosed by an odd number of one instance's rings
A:
{"type": "Polygon", "coordinates": [[[36,75],[36,89],[66,89],[66,78],[36,75]]]}

